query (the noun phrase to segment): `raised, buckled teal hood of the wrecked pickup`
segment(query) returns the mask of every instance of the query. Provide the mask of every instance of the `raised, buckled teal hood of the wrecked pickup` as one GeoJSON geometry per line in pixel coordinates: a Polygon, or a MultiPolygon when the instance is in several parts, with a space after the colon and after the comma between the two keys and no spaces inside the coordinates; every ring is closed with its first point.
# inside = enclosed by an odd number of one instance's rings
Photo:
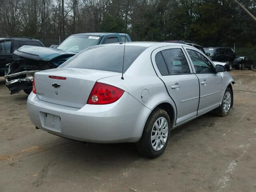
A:
{"type": "Polygon", "coordinates": [[[25,45],[14,51],[14,54],[22,58],[28,58],[33,60],[50,61],[62,55],[74,56],[75,52],[62,51],[56,48],[38,47],[25,45]]]}

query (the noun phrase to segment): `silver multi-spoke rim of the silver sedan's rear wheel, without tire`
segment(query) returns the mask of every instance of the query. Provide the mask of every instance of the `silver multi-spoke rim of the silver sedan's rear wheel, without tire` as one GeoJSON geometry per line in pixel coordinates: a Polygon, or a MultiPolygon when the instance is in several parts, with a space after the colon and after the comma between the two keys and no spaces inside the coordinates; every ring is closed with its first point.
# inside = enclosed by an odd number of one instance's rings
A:
{"type": "Polygon", "coordinates": [[[155,151],[161,150],[168,137],[168,122],[160,117],[156,120],[151,131],[151,146],[155,151]]]}

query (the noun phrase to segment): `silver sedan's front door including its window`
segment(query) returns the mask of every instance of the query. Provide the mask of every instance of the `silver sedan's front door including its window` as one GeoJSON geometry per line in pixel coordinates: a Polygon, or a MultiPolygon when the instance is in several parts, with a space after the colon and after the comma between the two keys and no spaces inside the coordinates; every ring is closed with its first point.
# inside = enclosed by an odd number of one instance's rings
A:
{"type": "Polygon", "coordinates": [[[222,76],[215,73],[215,66],[198,50],[184,47],[200,85],[198,115],[220,106],[222,76]]]}

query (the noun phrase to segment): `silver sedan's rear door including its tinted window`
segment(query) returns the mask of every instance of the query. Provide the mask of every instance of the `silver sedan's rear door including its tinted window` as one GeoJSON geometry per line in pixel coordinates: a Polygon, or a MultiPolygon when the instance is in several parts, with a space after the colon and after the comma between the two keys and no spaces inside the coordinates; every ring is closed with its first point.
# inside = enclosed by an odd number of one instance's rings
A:
{"type": "Polygon", "coordinates": [[[176,125],[197,115],[198,78],[193,74],[187,59],[182,46],[166,46],[152,52],[152,63],[156,73],[176,104],[176,125]]]}

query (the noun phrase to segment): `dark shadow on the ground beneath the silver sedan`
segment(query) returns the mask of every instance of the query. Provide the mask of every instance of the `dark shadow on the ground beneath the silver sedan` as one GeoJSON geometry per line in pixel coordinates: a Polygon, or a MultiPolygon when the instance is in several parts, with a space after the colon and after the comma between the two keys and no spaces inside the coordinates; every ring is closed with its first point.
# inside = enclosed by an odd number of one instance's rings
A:
{"type": "MultiPolygon", "coordinates": [[[[192,131],[201,130],[206,128],[206,126],[214,124],[217,119],[213,117],[213,114],[205,114],[200,117],[200,120],[192,120],[188,124],[184,124],[179,128],[172,130],[170,142],[168,143],[168,148],[166,150],[172,150],[172,145],[177,144],[175,142],[178,142],[178,140],[182,138],[186,138],[186,136],[190,135],[192,131]],[[209,124],[203,124],[200,122],[209,122],[209,124]]],[[[150,160],[148,158],[144,158],[136,151],[134,143],[96,144],[58,138],[57,136],[54,138],[58,140],[56,142],[63,143],[63,145],[58,148],[58,152],[53,152],[51,155],[57,155],[55,158],[66,159],[72,163],[74,163],[74,158],[76,159],[76,162],[87,162],[89,164],[95,164],[95,166],[99,164],[99,162],[122,164],[138,160],[150,160]]],[[[160,156],[158,158],[162,159],[163,157],[164,156],[160,156]]]]}

